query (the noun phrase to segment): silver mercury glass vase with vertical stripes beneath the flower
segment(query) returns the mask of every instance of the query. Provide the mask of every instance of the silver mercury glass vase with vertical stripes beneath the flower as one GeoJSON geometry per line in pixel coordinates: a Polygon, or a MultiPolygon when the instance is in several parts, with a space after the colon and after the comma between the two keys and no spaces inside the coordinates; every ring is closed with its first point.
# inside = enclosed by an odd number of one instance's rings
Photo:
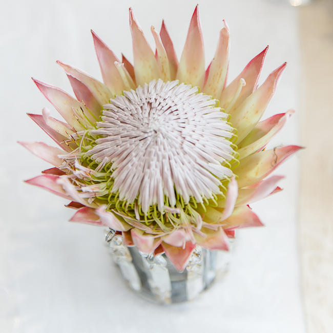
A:
{"type": "Polygon", "coordinates": [[[196,246],[188,264],[179,272],[162,255],[147,255],[123,244],[121,235],[106,231],[106,241],[124,280],[140,296],[150,301],[171,304],[195,299],[217,277],[227,272],[230,253],[196,246]]]}

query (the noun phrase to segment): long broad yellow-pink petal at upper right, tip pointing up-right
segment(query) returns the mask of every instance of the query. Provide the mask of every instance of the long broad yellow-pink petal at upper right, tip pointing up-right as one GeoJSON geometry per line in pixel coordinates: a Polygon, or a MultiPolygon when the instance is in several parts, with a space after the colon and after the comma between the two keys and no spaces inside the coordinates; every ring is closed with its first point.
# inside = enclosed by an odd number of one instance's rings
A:
{"type": "Polygon", "coordinates": [[[272,72],[252,95],[248,96],[237,109],[231,112],[230,122],[237,129],[238,140],[236,143],[241,142],[258,123],[274,95],[278,79],[285,66],[286,63],[272,72]]]}

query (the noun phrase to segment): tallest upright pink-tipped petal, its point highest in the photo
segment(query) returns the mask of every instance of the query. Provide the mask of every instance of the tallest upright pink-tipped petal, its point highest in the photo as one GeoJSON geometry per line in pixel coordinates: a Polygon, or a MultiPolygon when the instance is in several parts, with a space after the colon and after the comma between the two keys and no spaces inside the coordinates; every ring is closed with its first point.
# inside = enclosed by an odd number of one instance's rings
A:
{"type": "Polygon", "coordinates": [[[180,57],[177,79],[185,84],[202,87],[205,74],[203,37],[198,5],[192,15],[188,36],[180,57]]]}

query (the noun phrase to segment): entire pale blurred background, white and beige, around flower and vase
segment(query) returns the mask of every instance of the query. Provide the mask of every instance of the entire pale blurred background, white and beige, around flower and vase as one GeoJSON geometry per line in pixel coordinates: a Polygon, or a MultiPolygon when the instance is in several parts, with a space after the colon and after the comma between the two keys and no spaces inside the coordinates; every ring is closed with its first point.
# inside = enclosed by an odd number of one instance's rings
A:
{"type": "MultiPolygon", "coordinates": [[[[180,57],[198,1],[67,0],[2,4],[0,13],[0,331],[332,332],[333,2],[199,1],[206,63],[222,19],[231,30],[229,80],[262,51],[259,84],[287,61],[264,118],[297,112],[270,143],[306,147],[275,174],[284,191],[253,205],[265,227],[242,230],[230,272],[198,300],[139,299],[111,263],[99,228],[68,223],[66,200],[23,180],[49,168],[16,141],[53,144],[26,113],[49,102],[31,76],[71,92],[59,59],[101,79],[90,29],[131,61],[128,8],[153,46],[165,19],[180,57]]],[[[52,109],[52,115],[58,117],[52,109]]],[[[59,118],[59,117],[58,117],[59,118]]]]}

